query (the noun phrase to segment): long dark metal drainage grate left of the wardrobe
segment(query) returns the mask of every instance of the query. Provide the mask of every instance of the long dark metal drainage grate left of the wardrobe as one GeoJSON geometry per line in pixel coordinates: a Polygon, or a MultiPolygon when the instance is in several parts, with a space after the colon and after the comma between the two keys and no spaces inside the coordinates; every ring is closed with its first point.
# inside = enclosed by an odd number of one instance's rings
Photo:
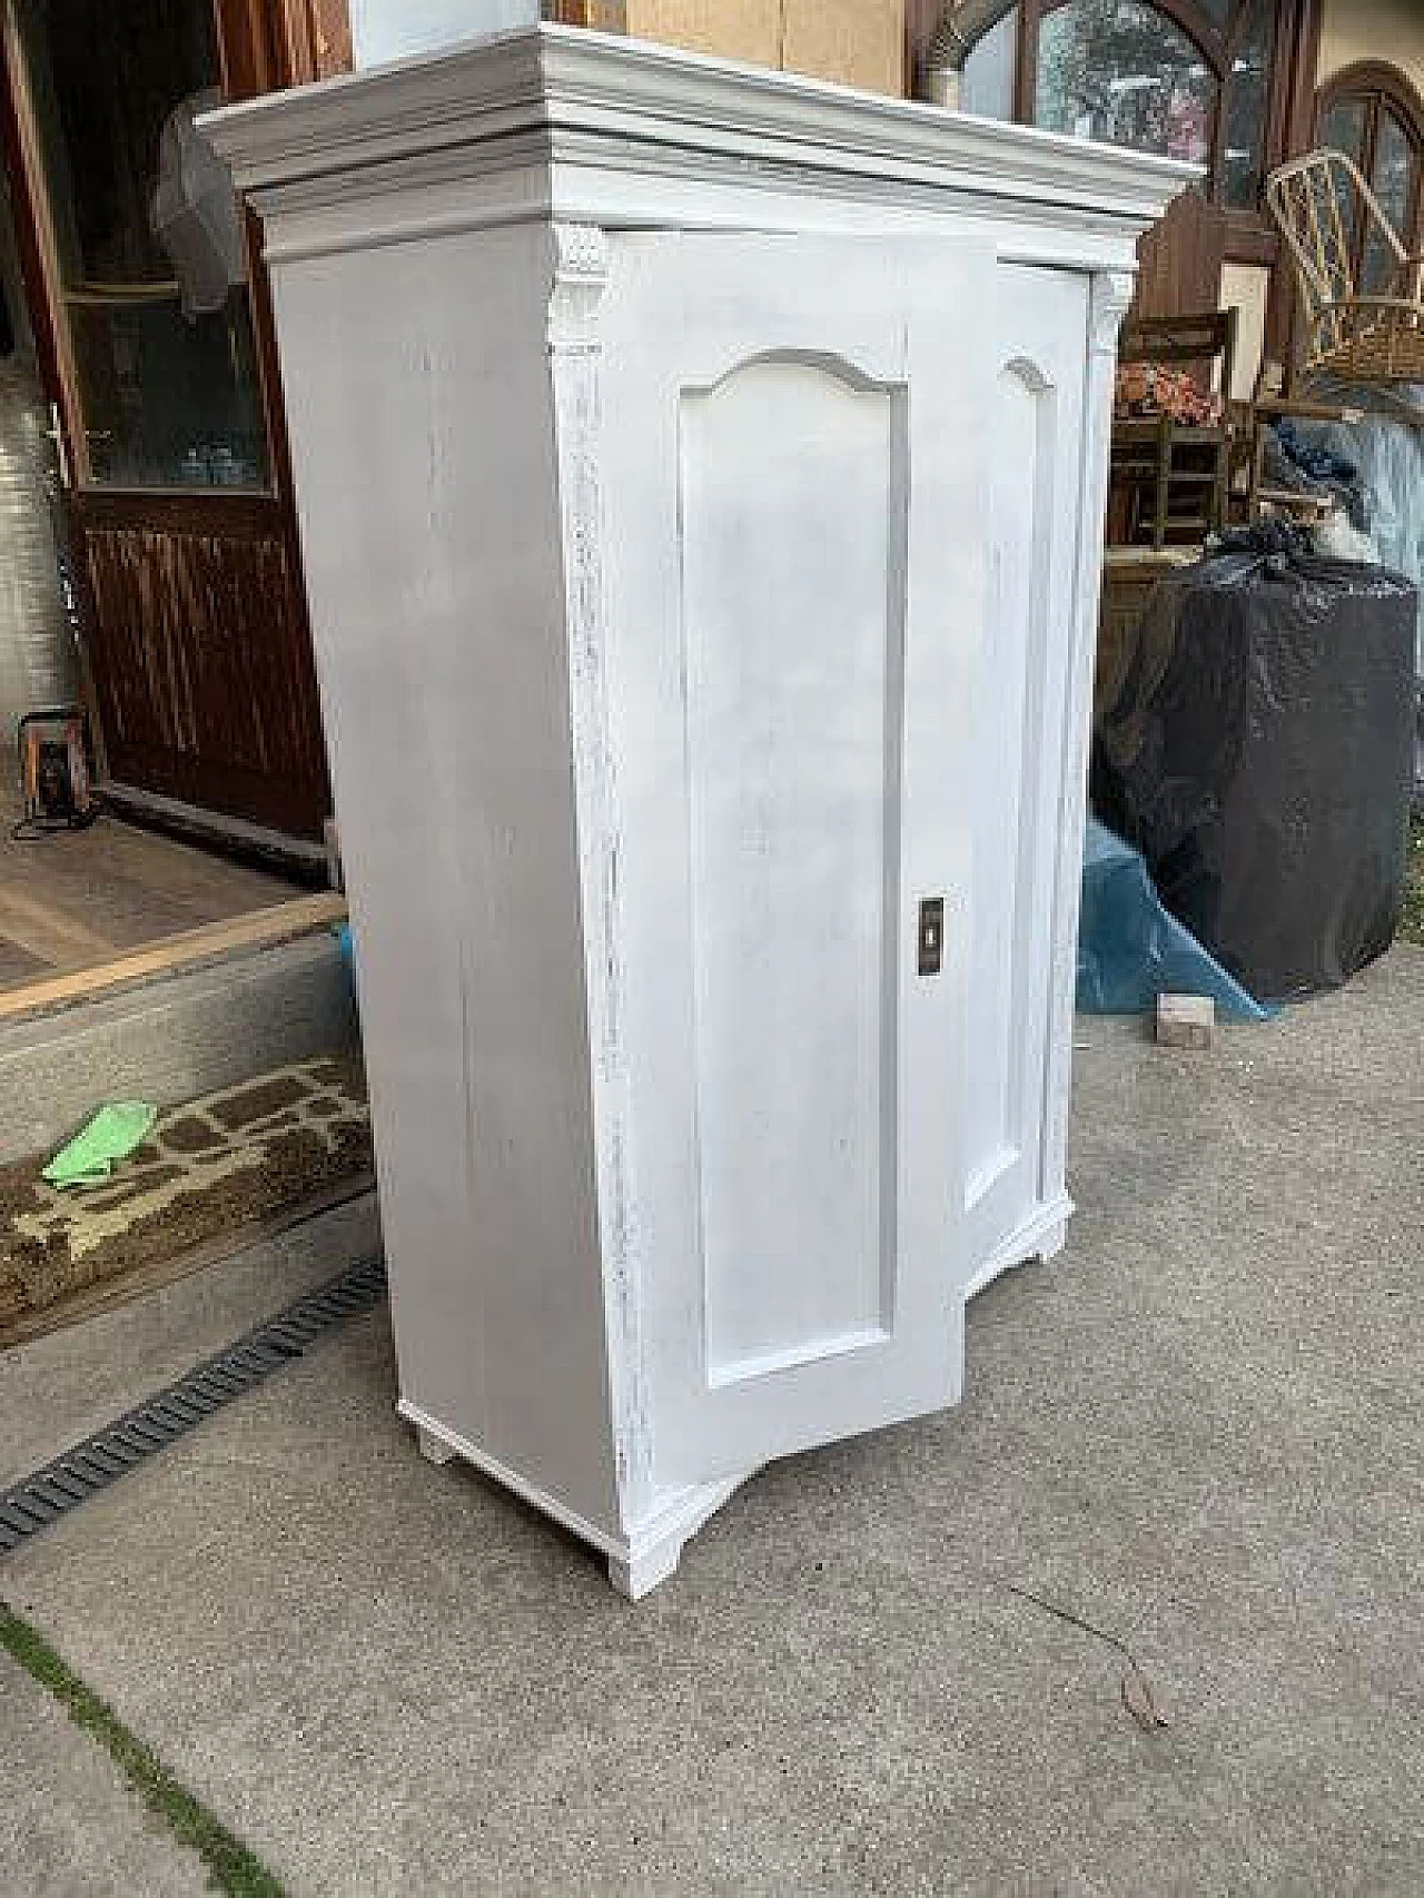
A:
{"type": "Polygon", "coordinates": [[[218,1351],[205,1365],[178,1378],[158,1397],[129,1410],[97,1437],[66,1450],[13,1490],[0,1492],[0,1556],[47,1530],[59,1517],[87,1503],[110,1482],[127,1477],[159,1450],[262,1384],[294,1357],[302,1357],[328,1330],[359,1312],[370,1312],[385,1294],[385,1260],[351,1266],[330,1285],[298,1298],[287,1312],[218,1351]]]}

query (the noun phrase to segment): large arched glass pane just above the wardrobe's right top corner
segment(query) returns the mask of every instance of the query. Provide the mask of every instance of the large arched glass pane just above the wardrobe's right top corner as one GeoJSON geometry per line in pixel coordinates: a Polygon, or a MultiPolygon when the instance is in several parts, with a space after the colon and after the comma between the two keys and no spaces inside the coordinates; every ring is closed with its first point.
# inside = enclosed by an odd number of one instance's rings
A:
{"type": "Polygon", "coordinates": [[[1143,0],[1067,0],[1042,19],[1039,125],[1204,163],[1215,95],[1192,40],[1143,0]]]}

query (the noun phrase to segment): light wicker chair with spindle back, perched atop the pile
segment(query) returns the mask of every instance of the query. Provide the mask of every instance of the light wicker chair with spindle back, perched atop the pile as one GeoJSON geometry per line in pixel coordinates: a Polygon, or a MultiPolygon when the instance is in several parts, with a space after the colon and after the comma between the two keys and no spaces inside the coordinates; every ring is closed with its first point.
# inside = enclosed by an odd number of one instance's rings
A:
{"type": "Polygon", "coordinates": [[[1424,258],[1413,256],[1344,152],[1308,152],[1266,178],[1266,205],[1295,260],[1306,317],[1302,383],[1424,383],[1424,258]],[[1363,294],[1361,222],[1394,256],[1384,294],[1363,294]]]}

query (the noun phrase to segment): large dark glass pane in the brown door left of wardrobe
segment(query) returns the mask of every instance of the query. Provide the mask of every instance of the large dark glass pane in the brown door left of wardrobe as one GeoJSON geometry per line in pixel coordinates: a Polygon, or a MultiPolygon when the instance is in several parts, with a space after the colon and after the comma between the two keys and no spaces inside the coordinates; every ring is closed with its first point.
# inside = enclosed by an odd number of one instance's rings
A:
{"type": "Polygon", "coordinates": [[[87,478],[266,488],[232,184],[192,133],[216,102],[205,4],[17,0],[87,478]]]}

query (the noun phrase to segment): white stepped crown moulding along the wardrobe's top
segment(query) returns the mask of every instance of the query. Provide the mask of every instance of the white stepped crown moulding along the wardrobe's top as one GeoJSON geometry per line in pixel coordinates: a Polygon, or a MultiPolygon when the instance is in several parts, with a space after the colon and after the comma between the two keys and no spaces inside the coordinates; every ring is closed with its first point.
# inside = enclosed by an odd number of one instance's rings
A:
{"type": "Polygon", "coordinates": [[[509,173],[524,180],[511,216],[553,205],[560,218],[636,224],[638,180],[792,184],[862,205],[1018,207],[1122,239],[1200,177],[1175,159],[554,25],[228,106],[201,125],[268,218],[509,173]]]}

